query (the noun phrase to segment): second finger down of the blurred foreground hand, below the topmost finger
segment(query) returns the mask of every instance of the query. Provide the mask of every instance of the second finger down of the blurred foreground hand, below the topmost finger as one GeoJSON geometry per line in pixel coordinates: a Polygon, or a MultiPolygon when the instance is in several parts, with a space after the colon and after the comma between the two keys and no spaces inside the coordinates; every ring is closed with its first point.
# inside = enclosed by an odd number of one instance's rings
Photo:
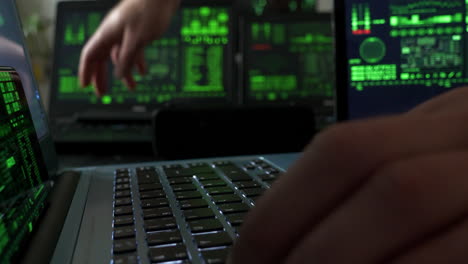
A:
{"type": "Polygon", "coordinates": [[[380,263],[401,254],[464,215],[467,159],[468,152],[452,152],[384,167],[312,228],[286,263],[380,263]]]}

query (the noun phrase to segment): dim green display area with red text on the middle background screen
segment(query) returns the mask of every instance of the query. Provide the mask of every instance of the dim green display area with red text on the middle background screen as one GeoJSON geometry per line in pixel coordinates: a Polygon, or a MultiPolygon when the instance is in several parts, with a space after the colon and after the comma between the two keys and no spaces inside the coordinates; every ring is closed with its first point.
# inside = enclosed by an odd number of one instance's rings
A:
{"type": "Polygon", "coordinates": [[[252,22],[247,42],[247,97],[301,101],[333,97],[333,38],[325,22],[252,22]]]}

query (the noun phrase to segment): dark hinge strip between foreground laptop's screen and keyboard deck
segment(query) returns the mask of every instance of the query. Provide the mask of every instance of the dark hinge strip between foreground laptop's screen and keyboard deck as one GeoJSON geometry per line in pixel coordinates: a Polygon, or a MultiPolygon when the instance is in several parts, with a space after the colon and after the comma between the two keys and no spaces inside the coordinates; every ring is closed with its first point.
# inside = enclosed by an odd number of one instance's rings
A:
{"type": "Polygon", "coordinates": [[[49,263],[52,258],[80,173],[64,172],[58,179],[49,195],[48,209],[29,243],[27,252],[24,252],[21,263],[49,263]]]}

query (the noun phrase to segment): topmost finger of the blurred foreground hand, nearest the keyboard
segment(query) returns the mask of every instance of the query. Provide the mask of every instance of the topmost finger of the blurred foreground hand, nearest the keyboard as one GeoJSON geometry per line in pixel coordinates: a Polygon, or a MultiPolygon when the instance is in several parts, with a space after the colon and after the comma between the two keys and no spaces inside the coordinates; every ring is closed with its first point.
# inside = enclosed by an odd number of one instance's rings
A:
{"type": "Polygon", "coordinates": [[[383,164],[463,148],[468,124],[461,120],[408,115],[340,124],[326,130],[246,217],[233,249],[234,263],[275,263],[283,259],[304,232],[383,164]]]}

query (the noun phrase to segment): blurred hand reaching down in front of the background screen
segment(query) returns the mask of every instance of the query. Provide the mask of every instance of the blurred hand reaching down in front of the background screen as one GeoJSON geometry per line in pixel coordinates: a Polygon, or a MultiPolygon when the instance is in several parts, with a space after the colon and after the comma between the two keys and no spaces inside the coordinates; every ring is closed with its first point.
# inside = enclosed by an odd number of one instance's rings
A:
{"type": "Polygon", "coordinates": [[[179,0],[122,0],[102,21],[86,43],[80,58],[83,87],[93,83],[97,95],[107,89],[107,61],[112,59],[115,76],[135,88],[133,66],[144,74],[144,47],[160,38],[171,22],[179,0]]]}

